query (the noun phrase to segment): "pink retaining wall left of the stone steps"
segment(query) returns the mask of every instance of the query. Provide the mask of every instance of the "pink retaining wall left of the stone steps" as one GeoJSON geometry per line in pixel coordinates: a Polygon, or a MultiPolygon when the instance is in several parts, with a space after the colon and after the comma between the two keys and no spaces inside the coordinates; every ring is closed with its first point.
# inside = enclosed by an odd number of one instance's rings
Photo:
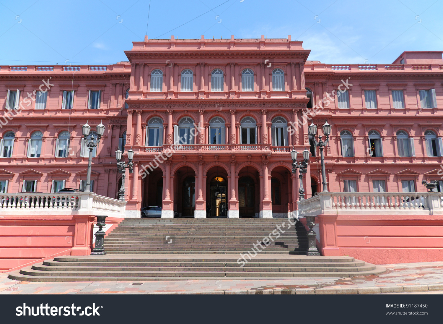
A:
{"type": "MultiPolygon", "coordinates": [[[[122,219],[107,219],[113,226],[122,219]]],[[[4,216],[0,220],[0,270],[17,268],[55,255],[91,253],[92,215],[4,216]]]]}

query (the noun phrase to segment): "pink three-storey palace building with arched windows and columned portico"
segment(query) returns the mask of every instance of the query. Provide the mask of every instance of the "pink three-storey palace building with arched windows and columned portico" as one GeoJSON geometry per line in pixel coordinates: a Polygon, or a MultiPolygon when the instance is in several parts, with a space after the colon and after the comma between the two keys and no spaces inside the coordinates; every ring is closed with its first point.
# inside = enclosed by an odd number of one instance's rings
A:
{"type": "Polygon", "coordinates": [[[290,36],[146,37],[125,51],[128,62],[1,66],[0,191],[82,190],[82,125],[103,123],[91,191],[118,199],[115,151],[127,161],[132,148],[128,217],[147,206],[162,217],[288,217],[299,199],[290,151],[311,151],[306,198],[322,191],[308,126],[322,134],[326,121],[329,191],[425,192],[422,180],[443,191],[442,51],[373,65],[309,53],[290,36]]]}

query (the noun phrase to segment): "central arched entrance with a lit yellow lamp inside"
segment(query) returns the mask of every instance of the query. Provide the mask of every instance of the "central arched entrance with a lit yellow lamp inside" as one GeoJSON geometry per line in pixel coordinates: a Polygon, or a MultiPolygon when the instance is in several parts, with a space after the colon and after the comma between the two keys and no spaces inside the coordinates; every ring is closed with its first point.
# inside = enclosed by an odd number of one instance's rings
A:
{"type": "Polygon", "coordinates": [[[207,217],[227,217],[228,215],[228,182],[221,176],[214,177],[210,182],[209,206],[207,217]]]}

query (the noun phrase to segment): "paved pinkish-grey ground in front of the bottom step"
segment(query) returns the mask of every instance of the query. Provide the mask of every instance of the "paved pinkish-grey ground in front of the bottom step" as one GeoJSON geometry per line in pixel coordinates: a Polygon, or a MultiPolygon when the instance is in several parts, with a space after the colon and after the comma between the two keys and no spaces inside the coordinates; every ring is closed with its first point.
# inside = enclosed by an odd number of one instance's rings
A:
{"type": "Polygon", "coordinates": [[[290,280],[27,282],[0,273],[0,294],[443,294],[443,262],[383,266],[373,276],[290,280]]]}

